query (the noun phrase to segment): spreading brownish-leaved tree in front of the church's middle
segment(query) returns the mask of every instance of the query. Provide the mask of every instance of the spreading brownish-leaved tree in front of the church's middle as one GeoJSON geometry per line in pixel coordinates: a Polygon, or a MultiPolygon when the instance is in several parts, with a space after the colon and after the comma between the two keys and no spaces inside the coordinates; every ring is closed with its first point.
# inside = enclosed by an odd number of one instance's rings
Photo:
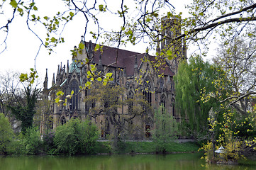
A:
{"type": "Polygon", "coordinates": [[[114,145],[129,137],[143,137],[143,127],[140,125],[143,125],[141,122],[144,115],[153,118],[150,115],[150,104],[145,101],[140,91],[134,96],[126,96],[124,87],[115,84],[94,84],[89,89],[86,101],[92,105],[89,110],[91,118],[103,116],[105,127],[102,128],[106,134],[111,134],[114,145]]]}

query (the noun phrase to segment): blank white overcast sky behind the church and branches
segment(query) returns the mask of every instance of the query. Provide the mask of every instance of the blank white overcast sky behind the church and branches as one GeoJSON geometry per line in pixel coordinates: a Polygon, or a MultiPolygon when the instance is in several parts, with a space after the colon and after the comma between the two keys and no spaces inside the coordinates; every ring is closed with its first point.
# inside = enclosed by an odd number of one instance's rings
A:
{"type": "MultiPolygon", "coordinates": [[[[126,0],[128,1],[128,0],[126,0]]],[[[125,2],[126,2],[125,1],[125,2]]],[[[45,13],[45,15],[54,15],[59,11],[59,9],[65,8],[63,3],[60,3],[61,0],[44,0],[44,1],[35,1],[35,4],[38,6],[39,13],[45,13]]],[[[187,11],[184,8],[185,1],[169,1],[174,7],[177,13],[182,12],[184,16],[187,15],[187,11]]],[[[188,3],[188,1],[186,1],[188,3]]],[[[113,6],[115,4],[112,4],[113,6]]],[[[11,13],[11,7],[9,9],[11,13]]],[[[0,11],[1,13],[2,11],[0,11]]],[[[10,14],[9,13],[9,14],[10,14]]],[[[9,15],[0,14],[0,23],[6,22],[6,18],[9,15]]],[[[82,18],[82,17],[81,17],[82,18]]],[[[113,18],[108,16],[103,16],[103,21],[106,24],[106,27],[115,26],[116,22],[113,18]],[[105,17],[105,18],[104,18],[105,17]]],[[[35,32],[38,35],[45,35],[45,29],[42,26],[33,26],[35,32]]],[[[38,71],[40,79],[43,81],[45,78],[45,69],[48,69],[49,82],[52,81],[52,74],[57,72],[57,65],[62,62],[67,65],[67,60],[72,60],[70,50],[74,49],[75,45],[78,45],[81,36],[84,34],[84,22],[80,18],[75,18],[71,23],[66,27],[62,35],[65,38],[65,42],[57,45],[52,52],[52,55],[48,55],[48,51],[44,47],[41,47],[38,56],[35,56],[38,53],[38,47],[40,41],[33,35],[33,33],[28,30],[26,26],[26,18],[21,18],[21,16],[16,17],[9,26],[9,35],[6,40],[7,48],[4,52],[0,54],[0,72],[1,74],[6,71],[17,71],[17,72],[29,72],[30,68],[34,68],[38,71]]],[[[0,40],[2,42],[4,38],[3,33],[0,34],[0,40]]],[[[86,41],[92,40],[91,35],[86,37],[86,41]]],[[[3,50],[3,45],[0,46],[0,51],[3,50]]],[[[147,45],[129,45],[128,47],[121,47],[125,50],[130,50],[134,52],[145,52],[147,45]]]]}

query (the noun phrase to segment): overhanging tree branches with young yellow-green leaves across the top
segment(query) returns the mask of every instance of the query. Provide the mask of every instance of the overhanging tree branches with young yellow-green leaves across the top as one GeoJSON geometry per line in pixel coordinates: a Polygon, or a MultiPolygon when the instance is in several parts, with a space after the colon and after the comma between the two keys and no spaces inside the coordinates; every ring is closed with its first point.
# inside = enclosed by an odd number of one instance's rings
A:
{"type": "MultiPolygon", "coordinates": [[[[0,26],[0,30],[5,35],[2,36],[3,39],[1,40],[4,42],[1,43],[4,45],[4,50],[6,50],[6,40],[8,39],[11,23],[18,16],[26,18],[28,30],[35,35],[35,38],[40,40],[38,51],[43,46],[49,50],[49,53],[54,50],[57,44],[65,42],[61,30],[64,30],[68,23],[71,23],[74,18],[78,17],[80,20],[84,19],[85,21],[83,26],[84,37],[90,34],[96,42],[98,40],[104,41],[101,37],[105,37],[105,40],[108,42],[117,42],[116,47],[119,47],[121,44],[126,45],[128,42],[135,45],[143,41],[150,42],[150,47],[156,49],[158,42],[167,40],[169,45],[165,47],[165,50],[162,50],[160,55],[164,55],[169,59],[176,57],[174,54],[172,55],[171,47],[179,45],[182,39],[184,41],[192,40],[196,44],[204,42],[202,45],[206,45],[208,44],[208,37],[214,31],[221,35],[221,38],[228,38],[228,40],[239,34],[246,34],[252,37],[255,35],[253,25],[256,18],[253,14],[256,4],[250,0],[192,1],[187,6],[190,16],[182,20],[181,13],[176,14],[174,6],[165,0],[135,0],[129,1],[129,4],[121,0],[118,1],[118,7],[116,8],[111,6],[110,1],[67,0],[62,1],[65,7],[53,16],[39,13],[40,4],[32,0],[12,0],[10,3],[3,0],[2,2],[1,8],[10,9],[8,7],[11,7],[11,13],[8,10],[4,10],[4,14],[9,16],[9,18],[6,18],[6,21],[2,22],[0,26]],[[118,21],[117,28],[113,28],[113,30],[104,28],[104,25],[101,23],[101,17],[107,15],[109,15],[108,18],[118,21]],[[165,29],[169,26],[165,26],[160,20],[160,18],[165,16],[167,18],[177,18],[175,24],[180,24],[180,27],[184,30],[181,35],[165,34],[165,29]],[[33,27],[33,24],[43,26],[46,30],[46,35],[40,35],[36,28],[33,27]]],[[[213,34],[213,38],[218,38],[218,36],[213,34]]],[[[82,50],[83,48],[83,45],[79,45],[77,50],[82,50]]],[[[96,46],[95,49],[99,50],[100,47],[96,46]]]]}

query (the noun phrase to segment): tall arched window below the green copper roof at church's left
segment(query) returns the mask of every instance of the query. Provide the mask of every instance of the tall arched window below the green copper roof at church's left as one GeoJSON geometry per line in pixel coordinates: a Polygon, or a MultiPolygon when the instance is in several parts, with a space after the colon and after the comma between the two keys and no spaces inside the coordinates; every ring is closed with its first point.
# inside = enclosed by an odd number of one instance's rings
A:
{"type": "Polygon", "coordinates": [[[70,84],[70,92],[71,91],[74,91],[74,94],[72,96],[72,98],[70,98],[70,101],[69,101],[69,109],[71,111],[74,111],[76,109],[79,109],[78,108],[78,91],[79,91],[79,86],[78,86],[78,83],[76,80],[72,80],[71,81],[71,84],[70,84]]]}

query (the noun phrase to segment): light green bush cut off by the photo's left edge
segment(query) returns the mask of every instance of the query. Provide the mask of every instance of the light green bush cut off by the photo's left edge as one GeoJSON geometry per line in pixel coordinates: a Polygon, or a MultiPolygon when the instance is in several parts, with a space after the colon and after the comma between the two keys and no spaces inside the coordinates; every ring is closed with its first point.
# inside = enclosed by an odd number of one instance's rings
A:
{"type": "Polygon", "coordinates": [[[0,154],[9,154],[11,152],[14,134],[11,129],[8,118],[0,113],[0,154]]]}

